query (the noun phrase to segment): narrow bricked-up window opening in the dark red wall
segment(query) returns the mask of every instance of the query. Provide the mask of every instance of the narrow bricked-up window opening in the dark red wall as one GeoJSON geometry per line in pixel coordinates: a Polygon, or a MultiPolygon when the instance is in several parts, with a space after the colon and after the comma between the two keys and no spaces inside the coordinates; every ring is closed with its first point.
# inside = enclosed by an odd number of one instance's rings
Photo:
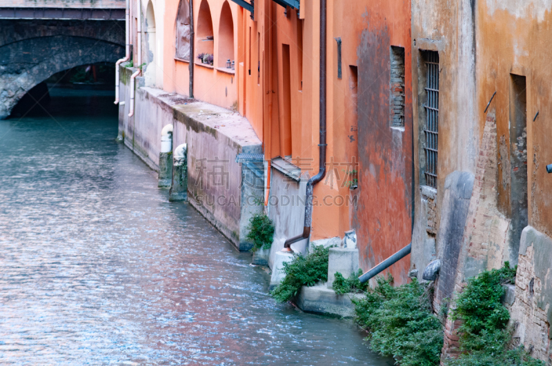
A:
{"type": "Polygon", "coordinates": [[[391,46],[391,125],[404,127],[404,48],[391,46]]]}

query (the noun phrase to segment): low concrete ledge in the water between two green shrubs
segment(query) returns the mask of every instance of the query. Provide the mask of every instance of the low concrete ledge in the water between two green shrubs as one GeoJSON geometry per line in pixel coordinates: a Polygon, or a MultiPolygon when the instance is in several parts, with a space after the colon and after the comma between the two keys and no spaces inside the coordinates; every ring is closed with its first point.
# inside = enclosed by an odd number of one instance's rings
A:
{"type": "Polygon", "coordinates": [[[351,298],[360,300],[364,298],[364,294],[337,295],[333,289],[328,289],[325,283],[319,283],[313,287],[301,287],[295,304],[304,312],[351,318],[355,316],[355,305],[351,298]]]}

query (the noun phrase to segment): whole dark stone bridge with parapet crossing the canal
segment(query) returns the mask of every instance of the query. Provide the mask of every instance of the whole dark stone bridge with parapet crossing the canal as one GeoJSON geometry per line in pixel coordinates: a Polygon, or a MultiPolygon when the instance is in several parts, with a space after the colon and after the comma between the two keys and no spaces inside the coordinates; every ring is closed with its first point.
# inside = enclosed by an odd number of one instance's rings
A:
{"type": "Polygon", "coordinates": [[[0,0],[0,119],[55,73],[124,57],[124,8],[120,0],[0,0]]]}

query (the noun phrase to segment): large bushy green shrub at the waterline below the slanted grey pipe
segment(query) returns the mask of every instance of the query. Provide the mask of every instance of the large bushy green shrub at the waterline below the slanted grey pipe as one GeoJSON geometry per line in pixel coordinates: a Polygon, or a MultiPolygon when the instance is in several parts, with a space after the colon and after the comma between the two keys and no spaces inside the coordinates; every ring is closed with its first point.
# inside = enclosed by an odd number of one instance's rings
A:
{"type": "Polygon", "coordinates": [[[393,277],[378,278],[375,289],[355,301],[357,323],[368,330],[373,351],[393,356],[402,366],[439,365],[441,323],[431,312],[428,285],[414,280],[393,287],[393,277]]]}

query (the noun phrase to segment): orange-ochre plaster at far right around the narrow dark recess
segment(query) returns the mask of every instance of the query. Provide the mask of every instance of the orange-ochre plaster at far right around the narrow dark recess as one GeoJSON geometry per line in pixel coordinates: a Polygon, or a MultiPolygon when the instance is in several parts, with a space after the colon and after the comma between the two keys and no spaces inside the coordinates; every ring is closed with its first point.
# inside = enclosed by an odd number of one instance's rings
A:
{"type": "MultiPolygon", "coordinates": [[[[511,74],[526,77],[526,169],[529,192],[529,225],[552,234],[552,179],[544,165],[552,163],[549,138],[552,126],[546,123],[552,112],[549,103],[552,79],[552,1],[499,1],[477,3],[477,104],[488,103],[493,92],[496,110],[499,162],[497,206],[507,217],[512,216],[511,171],[515,161],[511,144],[511,74]],[[533,122],[535,114],[539,112],[533,122]]],[[[515,136],[513,136],[515,139],[515,136]]],[[[525,151],[523,151],[525,150],[525,151]]],[[[514,152],[517,153],[517,152],[514,152]]],[[[518,234],[519,235],[519,234],[518,234]]],[[[513,238],[519,243],[520,238],[513,238]]]]}

